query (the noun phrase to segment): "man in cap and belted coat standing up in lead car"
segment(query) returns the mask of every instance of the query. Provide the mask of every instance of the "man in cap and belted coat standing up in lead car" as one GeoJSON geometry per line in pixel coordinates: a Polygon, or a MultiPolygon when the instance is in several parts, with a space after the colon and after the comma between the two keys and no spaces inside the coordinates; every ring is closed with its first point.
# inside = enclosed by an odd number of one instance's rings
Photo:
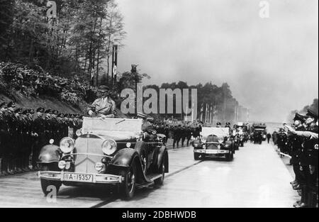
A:
{"type": "Polygon", "coordinates": [[[114,118],[116,103],[111,99],[108,87],[99,87],[99,99],[96,99],[88,108],[89,116],[96,116],[102,118],[114,118]]]}

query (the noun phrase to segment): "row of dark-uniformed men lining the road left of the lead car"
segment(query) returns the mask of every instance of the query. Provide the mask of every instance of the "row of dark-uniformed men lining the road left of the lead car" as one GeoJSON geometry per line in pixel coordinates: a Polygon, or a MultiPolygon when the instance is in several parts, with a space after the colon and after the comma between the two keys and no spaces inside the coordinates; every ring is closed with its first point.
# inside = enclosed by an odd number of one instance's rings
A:
{"type": "Polygon", "coordinates": [[[79,114],[63,114],[43,107],[16,108],[14,102],[0,104],[0,175],[38,170],[40,149],[68,136],[82,126],[79,114]]]}

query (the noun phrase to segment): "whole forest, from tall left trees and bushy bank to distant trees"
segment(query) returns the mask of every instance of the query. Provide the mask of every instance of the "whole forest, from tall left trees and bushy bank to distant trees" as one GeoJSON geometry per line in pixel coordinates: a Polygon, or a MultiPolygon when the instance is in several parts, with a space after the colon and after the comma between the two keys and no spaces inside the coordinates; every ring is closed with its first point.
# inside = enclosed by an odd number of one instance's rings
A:
{"type": "MultiPolygon", "coordinates": [[[[13,99],[14,92],[28,97],[53,95],[79,106],[96,97],[96,86],[108,84],[119,103],[122,89],[135,89],[142,79],[151,77],[132,66],[118,73],[114,84],[110,79],[113,45],[121,52],[126,35],[116,1],[56,0],[57,14],[51,18],[47,11],[52,5],[47,2],[0,0],[0,93],[13,99]]],[[[218,121],[247,121],[248,110],[240,106],[227,83],[220,87],[182,81],[145,86],[151,87],[197,89],[197,118],[203,121],[212,121],[213,116],[218,121]]],[[[184,118],[175,112],[159,115],[172,116],[184,118]]]]}

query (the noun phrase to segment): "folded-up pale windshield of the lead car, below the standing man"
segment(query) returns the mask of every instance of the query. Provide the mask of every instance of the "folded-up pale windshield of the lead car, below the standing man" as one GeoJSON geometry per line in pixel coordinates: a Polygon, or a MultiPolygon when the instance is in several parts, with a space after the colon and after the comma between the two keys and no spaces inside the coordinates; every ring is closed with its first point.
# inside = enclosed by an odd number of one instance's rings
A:
{"type": "Polygon", "coordinates": [[[133,118],[87,118],[84,117],[82,131],[103,132],[103,131],[121,131],[140,133],[142,127],[141,119],[133,118]]]}

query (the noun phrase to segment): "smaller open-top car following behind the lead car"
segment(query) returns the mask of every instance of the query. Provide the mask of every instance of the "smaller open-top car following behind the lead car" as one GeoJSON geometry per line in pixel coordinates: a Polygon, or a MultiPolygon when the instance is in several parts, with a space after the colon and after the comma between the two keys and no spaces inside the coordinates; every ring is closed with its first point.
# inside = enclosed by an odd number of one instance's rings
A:
{"type": "Polygon", "coordinates": [[[193,147],[194,160],[208,156],[225,156],[230,161],[235,153],[229,128],[203,127],[201,136],[193,141],[193,147]]]}

